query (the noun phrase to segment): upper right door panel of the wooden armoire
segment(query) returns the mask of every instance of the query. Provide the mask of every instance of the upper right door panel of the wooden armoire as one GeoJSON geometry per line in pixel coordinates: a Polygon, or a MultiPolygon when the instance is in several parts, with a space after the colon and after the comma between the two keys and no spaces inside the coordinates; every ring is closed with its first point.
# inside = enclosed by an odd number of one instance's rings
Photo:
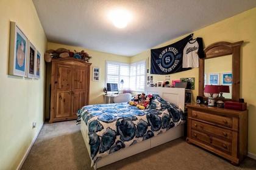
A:
{"type": "Polygon", "coordinates": [[[85,80],[85,69],[73,69],[73,90],[85,90],[87,80],[85,80]]]}

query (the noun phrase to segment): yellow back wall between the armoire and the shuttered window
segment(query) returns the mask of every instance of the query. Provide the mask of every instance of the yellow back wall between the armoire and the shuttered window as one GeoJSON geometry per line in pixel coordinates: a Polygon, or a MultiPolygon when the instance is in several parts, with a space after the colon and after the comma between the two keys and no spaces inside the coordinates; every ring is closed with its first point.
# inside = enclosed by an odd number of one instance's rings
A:
{"type": "Polygon", "coordinates": [[[65,48],[74,52],[85,50],[90,56],[92,56],[90,63],[91,64],[91,75],[93,71],[93,67],[100,68],[100,80],[93,81],[93,78],[90,78],[90,104],[99,104],[104,102],[103,98],[103,88],[105,87],[105,61],[118,61],[122,63],[130,63],[130,58],[127,56],[114,55],[110,53],[97,52],[94,50],[88,50],[83,47],[74,47],[74,46],[66,46],[63,44],[56,44],[52,42],[48,42],[48,49],[58,49],[65,48]]]}

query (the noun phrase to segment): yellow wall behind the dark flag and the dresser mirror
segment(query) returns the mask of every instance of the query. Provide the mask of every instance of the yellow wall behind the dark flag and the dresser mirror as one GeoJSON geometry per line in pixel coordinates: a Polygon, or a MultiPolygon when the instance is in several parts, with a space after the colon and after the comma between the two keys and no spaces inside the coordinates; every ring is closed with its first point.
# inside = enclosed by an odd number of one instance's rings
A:
{"type": "MultiPolygon", "coordinates": [[[[202,16],[203,17],[203,16],[202,16]]],[[[209,25],[203,29],[194,31],[195,37],[202,37],[205,46],[217,41],[244,41],[241,47],[241,77],[240,77],[240,97],[244,98],[249,109],[249,152],[256,154],[256,8],[235,15],[231,18],[209,25]]],[[[184,36],[172,39],[171,41],[160,44],[157,47],[166,46],[182,39],[184,36]]],[[[154,47],[154,48],[157,48],[154,47]]],[[[131,61],[150,58],[150,50],[146,50],[132,57],[131,61]]],[[[196,78],[194,97],[198,94],[198,69],[192,69],[185,72],[174,73],[171,80],[181,77],[196,78]]],[[[165,80],[165,76],[154,75],[155,81],[165,80]]]]}

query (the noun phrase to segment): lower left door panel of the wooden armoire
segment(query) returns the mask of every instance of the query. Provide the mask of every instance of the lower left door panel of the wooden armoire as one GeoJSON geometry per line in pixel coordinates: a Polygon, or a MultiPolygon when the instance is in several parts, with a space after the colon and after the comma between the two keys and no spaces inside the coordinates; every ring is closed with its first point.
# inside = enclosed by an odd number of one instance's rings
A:
{"type": "Polygon", "coordinates": [[[57,92],[55,118],[70,117],[71,112],[71,93],[57,92]]]}

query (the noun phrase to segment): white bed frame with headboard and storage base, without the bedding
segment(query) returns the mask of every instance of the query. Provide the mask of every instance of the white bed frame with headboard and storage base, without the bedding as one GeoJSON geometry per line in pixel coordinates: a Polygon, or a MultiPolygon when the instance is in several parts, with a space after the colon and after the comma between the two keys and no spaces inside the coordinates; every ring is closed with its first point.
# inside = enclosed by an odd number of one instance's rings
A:
{"type": "MultiPolygon", "coordinates": [[[[146,87],[146,94],[158,94],[166,101],[177,104],[182,110],[184,110],[185,89],[183,88],[146,87]]],[[[80,130],[82,132],[85,145],[90,155],[90,145],[86,127],[87,125],[83,120],[81,120],[80,126],[80,130]]],[[[163,134],[157,135],[155,137],[149,138],[148,140],[141,141],[140,143],[133,144],[128,148],[124,148],[118,152],[114,152],[110,155],[107,155],[106,157],[101,158],[101,160],[98,160],[93,167],[94,169],[101,168],[102,166],[108,165],[115,161],[122,160],[124,158],[154,148],[155,146],[159,146],[160,144],[166,143],[176,138],[180,138],[183,136],[183,130],[183,124],[180,124],[179,126],[169,129],[169,131],[166,131],[163,134]]]]}

